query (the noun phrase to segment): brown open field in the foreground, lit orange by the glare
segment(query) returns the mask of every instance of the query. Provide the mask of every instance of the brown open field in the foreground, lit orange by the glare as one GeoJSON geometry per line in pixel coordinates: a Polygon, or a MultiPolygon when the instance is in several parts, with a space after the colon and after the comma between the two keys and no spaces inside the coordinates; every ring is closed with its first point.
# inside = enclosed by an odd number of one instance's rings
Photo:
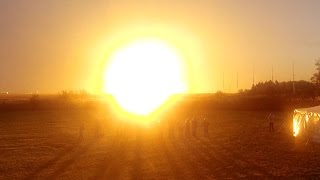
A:
{"type": "Polygon", "coordinates": [[[0,179],[320,177],[320,145],[292,137],[289,113],[276,113],[269,133],[266,115],[206,113],[209,138],[201,127],[197,138],[175,127],[170,139],[166,128],[97,124],[94,112],[0,112],[0,179]]]}

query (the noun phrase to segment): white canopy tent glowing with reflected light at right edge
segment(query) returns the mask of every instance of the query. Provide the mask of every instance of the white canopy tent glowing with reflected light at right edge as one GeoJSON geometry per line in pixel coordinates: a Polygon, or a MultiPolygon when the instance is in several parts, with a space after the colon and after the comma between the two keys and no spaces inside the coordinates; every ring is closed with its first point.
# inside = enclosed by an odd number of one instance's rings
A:
{"type": "Polygon", "coordinates": [[[293,135],[320,142],[320,106],[294,110],[293,135]]]}

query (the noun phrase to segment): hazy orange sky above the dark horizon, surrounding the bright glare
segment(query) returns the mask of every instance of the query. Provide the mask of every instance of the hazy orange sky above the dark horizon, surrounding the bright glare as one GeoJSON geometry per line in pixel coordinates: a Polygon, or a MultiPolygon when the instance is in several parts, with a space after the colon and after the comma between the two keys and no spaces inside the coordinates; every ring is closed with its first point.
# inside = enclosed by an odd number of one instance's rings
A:
{"type": "Polygon", "coordinates": [[[0,91],[95,92],[112,39],[131,29],[166,31],[193,52],[192,92],[221,90],[223,74],[235,91],[237,72],[249,88],[253,66],[256,82],[272,66],[275,80],[291,80],[293,61],[309,80],[320,57],[318,0],[0,0],[0,91]]]}

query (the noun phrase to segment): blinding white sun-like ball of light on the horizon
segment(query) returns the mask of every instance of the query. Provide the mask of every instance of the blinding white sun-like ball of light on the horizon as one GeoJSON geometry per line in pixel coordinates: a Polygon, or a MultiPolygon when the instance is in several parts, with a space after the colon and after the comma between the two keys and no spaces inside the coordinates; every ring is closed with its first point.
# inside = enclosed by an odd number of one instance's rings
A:
{"type": "Polygon", "coordinates": [[[134,115],[148,115],[175,93],[187,91],[183,61],[160,40],[132,42],[113,53],[104,71],[104,92],[134,115]]]}

